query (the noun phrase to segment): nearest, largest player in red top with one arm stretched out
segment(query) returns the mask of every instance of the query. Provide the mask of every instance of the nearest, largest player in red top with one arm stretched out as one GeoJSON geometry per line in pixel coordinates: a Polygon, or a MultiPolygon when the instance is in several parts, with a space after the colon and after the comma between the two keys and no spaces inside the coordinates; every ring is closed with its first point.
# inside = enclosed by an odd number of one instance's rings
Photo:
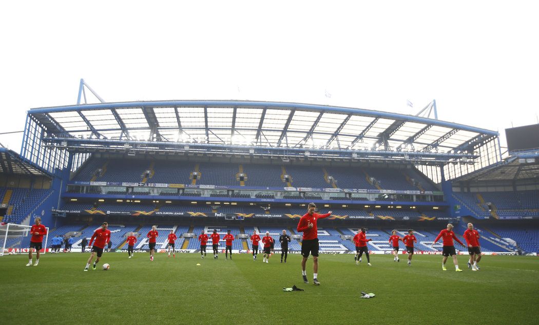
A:
{"type": "Polygon", "coordinates": [[[325,215],[319,215],[315,213],[316,205],[314,203],[309,203],[307,207],[307,213],[301,217],[300,222],[298,223],[298,232],[303,232],[303,240],[301,244],[301,275],[303,276],[303,282],[309,283],[307,280],[307,272],[305,271],[305,264],[307,263],[307,258],[309,254],[313,254],[313,283],[315,285],[320,285],[318,282],[318,228],[316,223],[318,219],[323,219],[331,216],[331,211],[325,215]]]}

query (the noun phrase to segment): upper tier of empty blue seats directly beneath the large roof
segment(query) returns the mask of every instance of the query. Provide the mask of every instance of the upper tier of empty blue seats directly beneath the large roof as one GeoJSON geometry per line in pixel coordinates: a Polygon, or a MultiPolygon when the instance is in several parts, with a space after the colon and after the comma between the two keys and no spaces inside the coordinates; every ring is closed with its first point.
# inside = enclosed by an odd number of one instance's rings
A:
{"type": "MultiPolygon", "coordinates": [[[[77,171],[73,181],[101,182],[142,182],[144,171],[150,170],[148,183],[191,184],[190,175],[198,165],[199,185],[239,186],[238,163],[208,163],[183,161],[146,160],[105,160],[91,159],[77,171]],[[102,169],[101,173],[97,172],[102,169]]],[[[302,188],[332,188],[326,182],[322,167],[301,165],[241,164],[246,175],[245,186],[283,188],[287,186],[281,178],[283,168],[292,177],[291,185],[302,188]]],[[[437,190],[423,174],[416,169],[391,168],[340,168],[325,167],[328,176],[333,176],[338,188],[419,190],[411,179],[421,184],[424,190],[437,190]],[[367,178],[376,179],[371,184],[367,178]]]]}

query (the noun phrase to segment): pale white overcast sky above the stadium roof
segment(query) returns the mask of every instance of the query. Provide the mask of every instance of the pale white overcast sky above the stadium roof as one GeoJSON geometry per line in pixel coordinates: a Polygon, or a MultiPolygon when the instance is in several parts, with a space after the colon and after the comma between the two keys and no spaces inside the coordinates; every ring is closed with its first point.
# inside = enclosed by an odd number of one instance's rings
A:
{"type": "MultiPolygon", "coordinates": [[[[3,1],[1,132],[23,130],[30,108],[76,103],[80,78],[109,102],[414,115],[436,99],[440,120],[497,130],[502,146],[505,128],[538,123],[537,1],[156,3],[3,1]]],[[[17,152],[21,141],[0,135],[17,152]]]]}

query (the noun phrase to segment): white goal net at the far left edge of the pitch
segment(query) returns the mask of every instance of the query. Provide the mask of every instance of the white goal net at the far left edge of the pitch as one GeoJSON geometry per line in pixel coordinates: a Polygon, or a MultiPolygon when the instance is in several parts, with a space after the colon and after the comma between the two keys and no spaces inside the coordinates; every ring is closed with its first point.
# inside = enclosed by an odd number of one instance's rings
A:
{"type": "MultiPolygon", "coordinates": [[[[24,226],[17,224],[0,225],[0,256],[8,253],[27,253],[30,250],[30,239],[32,234],[30,230],[32,226],[24,226]]],[[[43,236],[43,245],[41,253],[45,253],[47,247],[47,239],[49,239],[49,228],[46,228],[47,234],[43,236]]]]}

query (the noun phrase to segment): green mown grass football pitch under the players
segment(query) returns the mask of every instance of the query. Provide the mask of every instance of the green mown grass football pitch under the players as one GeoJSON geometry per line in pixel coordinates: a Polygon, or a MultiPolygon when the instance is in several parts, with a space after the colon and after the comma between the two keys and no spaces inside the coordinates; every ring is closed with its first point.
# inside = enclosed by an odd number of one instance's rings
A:
{"type": "MultiPolygon", "coordinates": [[[[321,255],[320,286],[301,279],[301,255],[269,263],[251,255],[104,253],[94,271],[83,272],[88,253],[45,254],[37,267],[26,255],[0,258],[2,324],[530,324],[539,316],[536,257],[484,256],[481,271],[455,272],[440,255],[321,255]],[[102,271],[103,263],[110,264],[102,271]],[[199,263],[201,266],[196,266],[199,263]],[[296,285],[303,292],[283,292],[296,285]],[[376,294],[360,299],[360,292],[376,294]]],[[[35,259],[35,257],[34,257],[35,259]]]]}

